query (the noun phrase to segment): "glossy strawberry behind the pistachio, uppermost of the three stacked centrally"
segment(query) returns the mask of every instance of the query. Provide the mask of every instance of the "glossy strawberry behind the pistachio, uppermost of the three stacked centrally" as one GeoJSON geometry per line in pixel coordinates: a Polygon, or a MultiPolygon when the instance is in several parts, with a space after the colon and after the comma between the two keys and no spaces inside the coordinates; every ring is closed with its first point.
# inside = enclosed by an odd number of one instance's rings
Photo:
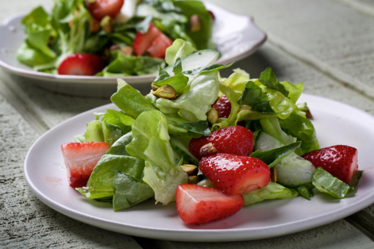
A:
{"type": "Polygon", "coordinates": [[[212,143],[218,153],[248,156],[253,150],[253,133],[242,126],[229,126],[212,132],[210,136],[192,138],[188,149],[200,159],[200,148],[212,143]]]}

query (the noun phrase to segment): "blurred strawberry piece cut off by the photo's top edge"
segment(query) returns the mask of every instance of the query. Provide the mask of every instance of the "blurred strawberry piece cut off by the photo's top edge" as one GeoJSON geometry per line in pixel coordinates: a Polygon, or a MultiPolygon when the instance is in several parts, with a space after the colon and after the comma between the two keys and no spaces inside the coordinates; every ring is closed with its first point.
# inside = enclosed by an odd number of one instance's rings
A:
{"type": "Polygon", "coordinates": [[[86,1],[86,6],[93,18],[101,20],[104,16],[118,15],[123,3],[124,0],[96,0],[93,3],[86,1]]]}

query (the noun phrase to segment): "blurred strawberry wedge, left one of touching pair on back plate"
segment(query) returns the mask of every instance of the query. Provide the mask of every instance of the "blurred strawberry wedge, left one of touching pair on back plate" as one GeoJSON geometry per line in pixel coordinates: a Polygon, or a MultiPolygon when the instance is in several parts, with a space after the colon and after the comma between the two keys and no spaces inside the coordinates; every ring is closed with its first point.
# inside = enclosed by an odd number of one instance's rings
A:
{"type": "Polygon", "coordinates": [[[160,34],[162,34],[161,31],[154,26],[153,23],[150,23],[146,33],[142,34],[137,32],[134,42],[132,43],[132,48],[134,49],[135,53],[137,55],[142,55],[160,34]]]}

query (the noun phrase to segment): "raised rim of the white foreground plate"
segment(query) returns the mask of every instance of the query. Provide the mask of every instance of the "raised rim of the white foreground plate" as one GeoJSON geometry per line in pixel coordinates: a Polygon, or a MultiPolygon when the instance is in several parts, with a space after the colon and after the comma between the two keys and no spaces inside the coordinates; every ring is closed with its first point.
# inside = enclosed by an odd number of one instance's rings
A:
{"type": "MultiPolygon", "coordinates": [[[[306,93],[303,93],[302,97],[306,98],[315,98],[315,99],[321,99],[324,101],[332,101],[335,102],[335,104],[339,104],[342,107],[345,108],[351,108],[351,110],[355,110],[356,112],[360,112],[362,115],[367,116],[371,120],[374,121],[374,117],[370,115],[369,113],[358,109],[356,107],[353,107],[351,105],[344,104],[339,101],[335,101],[332,99],[324,98],[321,96],[316,95],[309,95],[306,93]]],[[[103,109],[103,108],[113,108],[115,105],[113,103],[102,105],[100,107],[93,108],[91,110],[82,112],[80,114],[77,114],[73,117],[70,117],[69,119],[57,124],[47,132],[45,132],[42,136],[40,136],[30,147],[24,161],[24,177],[25,181],[30,188],[30,190],[40,199],[43,203],[45,203],[47,206],[51,207],[52,209],[69,216],[73,219],[76,219],[78,221],[84,222],[86,224],[90,224],[99,228],[103,228],[110,231],[115,231],[118,233],[128,234],[131,236],[140,236],[140,237],[148,237],[152,239],[164,239],[164,240],[176,240],[176,241],[190,241],[190,242],[224,242],[224,241],[239,241],[239,240],[255,240],[255,239],[265,239],[270,237],[276,237],[276,236],[283,236],[286,234],[292,234],[300,231],[305,231],[311,228],[319,227],[321,225],[325,225],[334,221],[337,221],[339,219],[342,219],[346,216],[352,215],[355,212],[358,212],[359,210],[364,209],[367,206],[370,206],[374,203],[374,191],[371,195],[368,197],[362,198],[361,200],[358,200],[354,203],[350,203],[348,206],[340,207],[339,209],[335,209],[331,212],[319,215],[319,216],[313,216],[313,219],[311,221],[311,218],[305,218],[300,219],[298,221],[292,221],[292,222],[286,222],[284,224],[280,225],[269,225],[266,227],[261,227],[261,233],[254,230],[253,228],[229,228],[229,229],[203,229],[203,230],[194,230],[194,229],[188,229],[187,231],[179,231],[179,230],[168,230],[168,229],[159,229],[154,230],[153,228],[147,228],[144,226],[139,226],[136,224],[121,224],[120,222],[115,221],[109,221],[107,219],[102,219],[95,217],[94,215],[82,213],[80,211],[71,209],[69,207],[65,207],[63,205],[60,205],[59,203],[55,202],[54,200],[49,199],[45,194],[43,194],[42,190],[39,190],[35,187],[33,184],[33,181],[30,179],[29,173],[28,173],[28,160],[31,155],[31,153],[34,150],[34,147],[37,147],[39,141],[43,139],[43,137],[48,136],[49,133],[53,132],[53,130],[58,129],[61,126],[64,126],[65,124],[71,122],[71,120],[76,119],[77,117],[82,117],[88,114],[92,114],[92,112],[103,109]],[[328,219],[327,219],[328,217],[328,219]],[[309,222],[306,222],[309,221],[309,222]],[[282,229],[281,229],[282,228],[282,229]],[[286,229],[287,228],[287,229],[286,229]],[[227,236],[222,236],[223,233],[235,233],[235,236],[230,236],[229,238],[227,236]],[[167,233],[166,233],[167,232],[167,233]],[[248,233],[251,233],[250,235],[248,233]],[[146,233],[146,234],[145,234],[146,233]],[[166,233],[166,234],[165,234],[166,233]],[[187,239],[181,239],[181,234],[184,235],[194,235],[195,237],[186,236],[184,238],[187,239]],[[200,234],[200,236],[199,236],[200,234]],[[208,237],[208,238],[207,238],[208,237]]],[[[114,212],[114,211],[113,211],[114,212]]]]}

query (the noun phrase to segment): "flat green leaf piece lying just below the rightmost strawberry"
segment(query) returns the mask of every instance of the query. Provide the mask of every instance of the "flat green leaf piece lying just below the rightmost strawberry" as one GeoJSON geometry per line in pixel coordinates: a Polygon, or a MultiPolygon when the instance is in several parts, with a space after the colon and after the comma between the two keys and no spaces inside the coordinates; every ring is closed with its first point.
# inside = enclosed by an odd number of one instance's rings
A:
{"type": "Polygon", "coordinates": [[[350,190],[348,184],[332,176],[322,167],[318,167],[313,173],[312,184],[316,187],[316,190],[339,199],[344,198],[350,190]]]}

